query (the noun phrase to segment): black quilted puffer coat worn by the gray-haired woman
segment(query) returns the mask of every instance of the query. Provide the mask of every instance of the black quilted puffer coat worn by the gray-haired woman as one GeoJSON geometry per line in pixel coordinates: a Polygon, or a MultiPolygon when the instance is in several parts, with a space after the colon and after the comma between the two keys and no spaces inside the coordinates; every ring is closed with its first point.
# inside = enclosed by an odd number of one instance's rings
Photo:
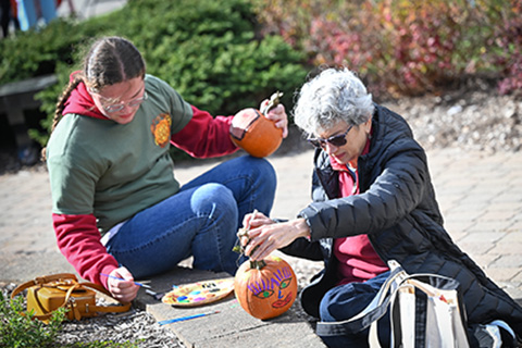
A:
{"type": "Polygon", "coordinates": [[[338,177],[327,154],[318,150],[312,178],[313,202],[299,215],[311,240],[299,238],[283,249],[325,262],[325,269],[301,293],[303,309],[319,318],[319,303],[335,286],[333,238],[368,234],[385,262],[397,260],[410,274],[436,273],[461,286],[468,322],[506,321],[522,337],[522,308],[495,285],[452,241],[443,227],[426,156],[406,121],[376,105],[370,152],[359,159],[358,196],[338,197],[338,177]]]}

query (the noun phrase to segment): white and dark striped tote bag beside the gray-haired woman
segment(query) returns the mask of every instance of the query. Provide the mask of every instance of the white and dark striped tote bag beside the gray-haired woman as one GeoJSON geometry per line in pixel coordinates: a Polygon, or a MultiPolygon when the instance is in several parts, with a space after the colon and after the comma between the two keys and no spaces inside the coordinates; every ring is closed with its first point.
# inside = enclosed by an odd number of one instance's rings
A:
{"type": "Polygon", "coordinates": [[[389,311],[390,347],[469,348],[465,311],[457,281],[437,274],[407,274],[396,261],[372,302],[341,322],[318,323],[318,335],[357,334],[370,327],[369,344],[380,348],[377,321],[389,311]]]}

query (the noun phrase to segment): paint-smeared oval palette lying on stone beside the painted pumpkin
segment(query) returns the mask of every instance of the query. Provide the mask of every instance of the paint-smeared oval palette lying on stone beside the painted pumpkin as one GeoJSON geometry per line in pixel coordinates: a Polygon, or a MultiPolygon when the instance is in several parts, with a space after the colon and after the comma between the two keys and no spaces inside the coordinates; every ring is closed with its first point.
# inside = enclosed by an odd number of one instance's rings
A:
{"type": "Polygon", "coordinates": [[[215,302],[234,291],[234,278],[197,282],[178,286],[161,299],[163,303],[176,307],[196,307],[215,302]]]}

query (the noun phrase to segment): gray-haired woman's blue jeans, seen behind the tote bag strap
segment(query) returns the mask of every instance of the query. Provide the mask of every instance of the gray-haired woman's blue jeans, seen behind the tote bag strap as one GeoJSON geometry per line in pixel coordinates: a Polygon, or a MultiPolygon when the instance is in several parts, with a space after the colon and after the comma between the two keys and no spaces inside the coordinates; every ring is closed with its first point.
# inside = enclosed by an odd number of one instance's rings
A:
{"type": "MultiPolygon", "coordinates": [[[[330,289],[321,300],[320,315],[323,322],[337,322],[352,318],[373,300],[378,289],[389,276],[384,272],[364,283],[349,283],[330,289]]],[[[382,347],[389,347],[389,314],[377,324],[378,340],[382,347]]],[[[321,337],[328,347],[368,347],[369,330],[351,336],[321,337]]]]}

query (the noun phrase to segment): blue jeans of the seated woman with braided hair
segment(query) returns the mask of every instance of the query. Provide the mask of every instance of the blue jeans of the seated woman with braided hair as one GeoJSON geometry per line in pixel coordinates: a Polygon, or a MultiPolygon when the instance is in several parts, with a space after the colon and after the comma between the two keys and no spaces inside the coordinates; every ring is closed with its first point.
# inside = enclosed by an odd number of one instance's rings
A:
{"type": "Polygon", "coordinates": [[[236,158],[203,173],[174,196],[129,219],[107,245],[135,278],[172,270],[192,256],[194,268],[235,274],[232,251],[245,214],[270,215],[276,175],[264,159],[236,158]]]}

